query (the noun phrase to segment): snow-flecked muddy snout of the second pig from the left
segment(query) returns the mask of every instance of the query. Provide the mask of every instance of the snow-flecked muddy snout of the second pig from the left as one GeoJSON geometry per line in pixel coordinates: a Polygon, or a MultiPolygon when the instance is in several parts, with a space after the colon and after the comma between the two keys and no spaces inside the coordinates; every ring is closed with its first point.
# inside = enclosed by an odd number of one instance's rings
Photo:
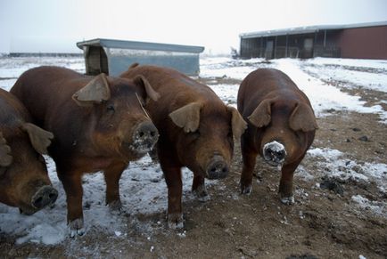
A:
{"type": "Polygon", "coordinates": [[[137,153],[144,154],[152,150],[158,139],[157,128],[151,121],[144,121],[136,126],[130,148],[137,153]]]}

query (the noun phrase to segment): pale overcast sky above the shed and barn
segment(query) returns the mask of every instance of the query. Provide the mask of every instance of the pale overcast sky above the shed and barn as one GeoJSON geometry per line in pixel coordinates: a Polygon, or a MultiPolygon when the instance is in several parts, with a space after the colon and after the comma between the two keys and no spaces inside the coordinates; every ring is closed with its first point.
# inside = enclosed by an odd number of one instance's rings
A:
{"type": "Polygon", "coordinates": [[[239,34],[387,20],[386,0],[0,0],[0,53],[79,52],[114,38],[239,49],[239,34]]]}

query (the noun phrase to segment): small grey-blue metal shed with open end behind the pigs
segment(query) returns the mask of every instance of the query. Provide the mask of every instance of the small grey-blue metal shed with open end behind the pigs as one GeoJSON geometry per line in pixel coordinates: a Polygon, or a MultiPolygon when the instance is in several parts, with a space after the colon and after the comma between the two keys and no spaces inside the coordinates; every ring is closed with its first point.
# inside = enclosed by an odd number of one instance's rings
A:
{"type": "Polygon", "coordinates": [[[77,43],[83,50],[87,75],[105,73],[119,76],[135,62],[177,69],[189,76],[199,75],[199,54],[204,47],[169,45],[96,38],[77,43]]]}

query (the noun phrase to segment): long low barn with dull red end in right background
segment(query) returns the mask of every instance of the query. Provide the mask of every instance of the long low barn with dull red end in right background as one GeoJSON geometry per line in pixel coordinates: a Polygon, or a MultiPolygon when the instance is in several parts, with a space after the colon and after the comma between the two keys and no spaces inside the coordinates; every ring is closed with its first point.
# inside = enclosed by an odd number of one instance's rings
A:
{"type": "Polygon", "coordinates": [[[243,58],[387,59],[387,21],[240,34],[243,58]]]}

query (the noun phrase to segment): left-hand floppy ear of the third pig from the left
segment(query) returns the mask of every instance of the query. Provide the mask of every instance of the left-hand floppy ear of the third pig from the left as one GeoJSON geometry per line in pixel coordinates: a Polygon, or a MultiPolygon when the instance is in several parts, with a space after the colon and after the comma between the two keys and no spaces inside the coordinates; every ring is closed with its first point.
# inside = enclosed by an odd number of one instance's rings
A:
{"type": "Polygon", "coordinates": [[[185,133],[193,133],[199,128],[202,104],[191,102],[169,113],[173,123],[184,128],[185,133]]]}

